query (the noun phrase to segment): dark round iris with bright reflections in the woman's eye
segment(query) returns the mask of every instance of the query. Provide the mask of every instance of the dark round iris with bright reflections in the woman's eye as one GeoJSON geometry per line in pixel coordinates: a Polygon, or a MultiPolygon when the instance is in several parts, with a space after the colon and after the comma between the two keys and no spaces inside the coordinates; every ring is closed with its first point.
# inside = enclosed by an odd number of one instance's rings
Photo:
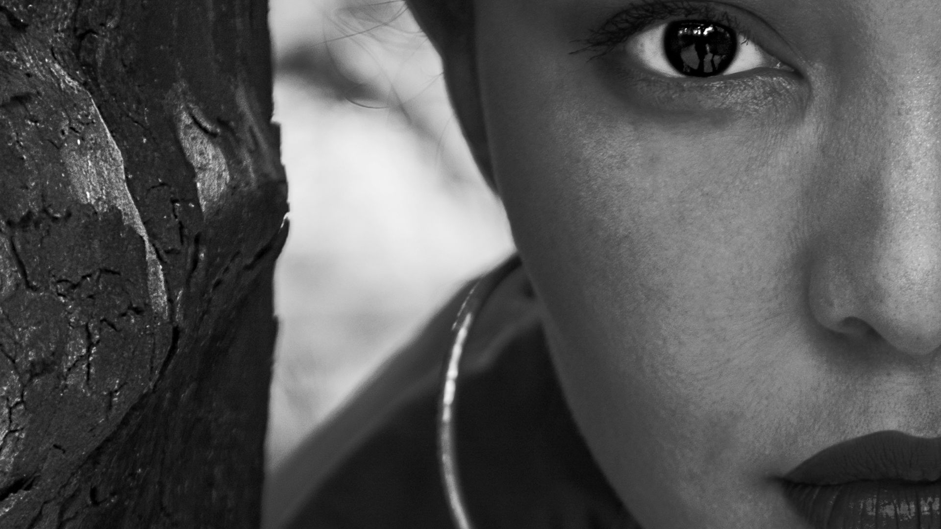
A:
{"type": "Polygon", "coordinates": [[[735,31],[706,21],[678,21],[666,26],[663,47],[677,72],[710,77],[725,72],[738,48],[735,31]]]}

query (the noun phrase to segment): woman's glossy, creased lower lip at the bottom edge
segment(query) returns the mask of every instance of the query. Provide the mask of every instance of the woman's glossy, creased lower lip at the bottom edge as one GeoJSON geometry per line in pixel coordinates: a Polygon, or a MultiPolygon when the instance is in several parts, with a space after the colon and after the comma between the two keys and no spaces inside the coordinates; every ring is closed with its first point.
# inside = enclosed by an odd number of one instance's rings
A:
{"type": "Polygon", "coordinates": [[[784,489],[814,529],[941,529],[941,482],[786,482],[784,489]]]}

